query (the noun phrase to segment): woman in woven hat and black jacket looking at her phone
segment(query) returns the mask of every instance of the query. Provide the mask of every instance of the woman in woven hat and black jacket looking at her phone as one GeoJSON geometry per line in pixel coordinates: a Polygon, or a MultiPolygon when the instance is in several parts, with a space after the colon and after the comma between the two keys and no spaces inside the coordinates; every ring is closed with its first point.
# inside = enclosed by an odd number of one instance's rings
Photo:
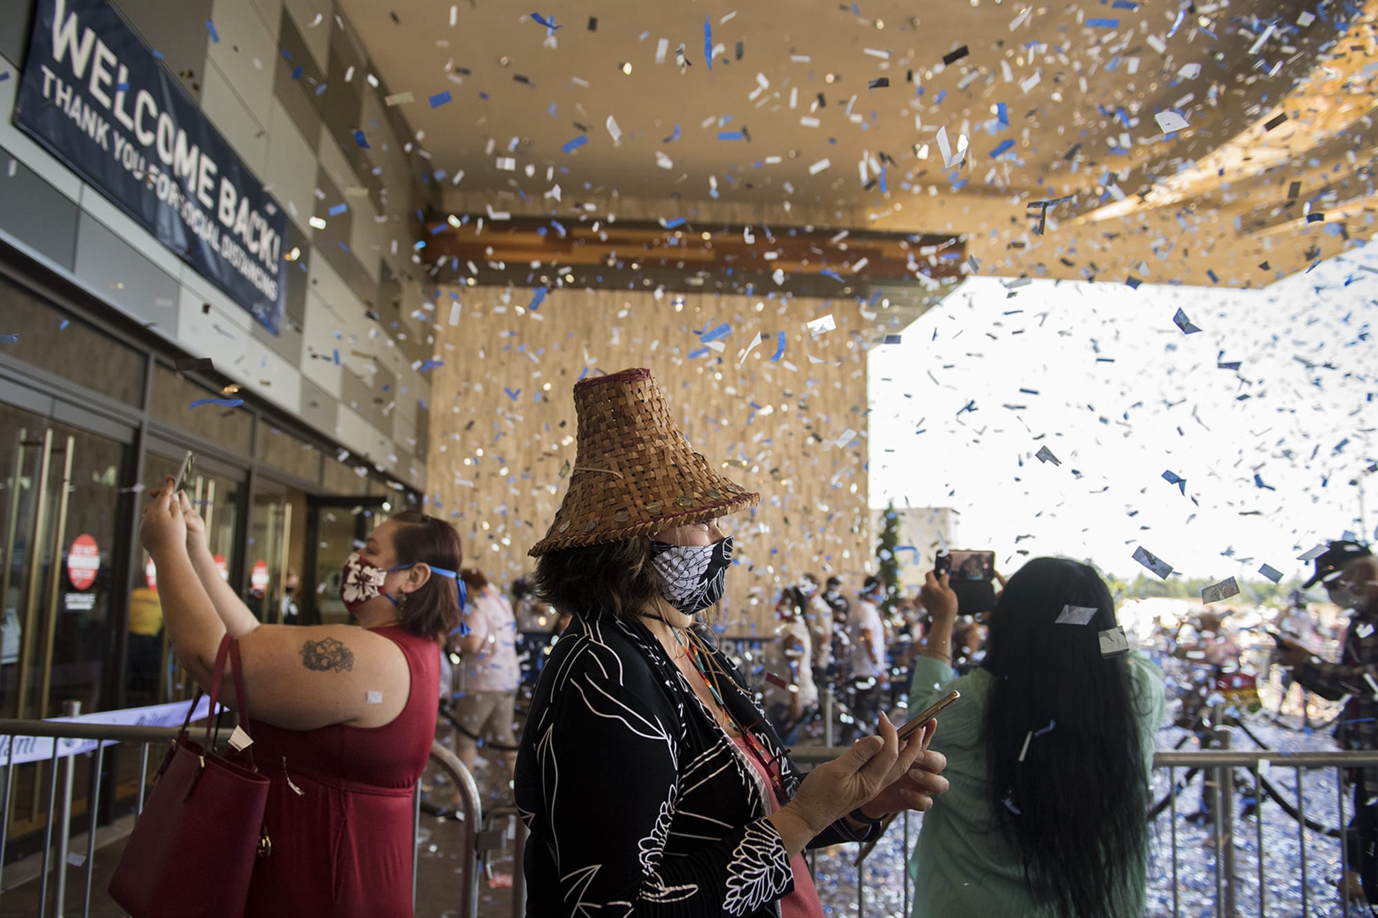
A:
{"type": "Polygon", "coordinates": [[[696,620],[732,564],[725,518],[761,495],[690,449],[650,371],[580,382],[575,409],[569,491],[531,550],[573,620],[517,758],[526,914],[823,915],[802,850],[932,806],[932,726],[901,746],[882,718],[802,779],[696,620]]]}

